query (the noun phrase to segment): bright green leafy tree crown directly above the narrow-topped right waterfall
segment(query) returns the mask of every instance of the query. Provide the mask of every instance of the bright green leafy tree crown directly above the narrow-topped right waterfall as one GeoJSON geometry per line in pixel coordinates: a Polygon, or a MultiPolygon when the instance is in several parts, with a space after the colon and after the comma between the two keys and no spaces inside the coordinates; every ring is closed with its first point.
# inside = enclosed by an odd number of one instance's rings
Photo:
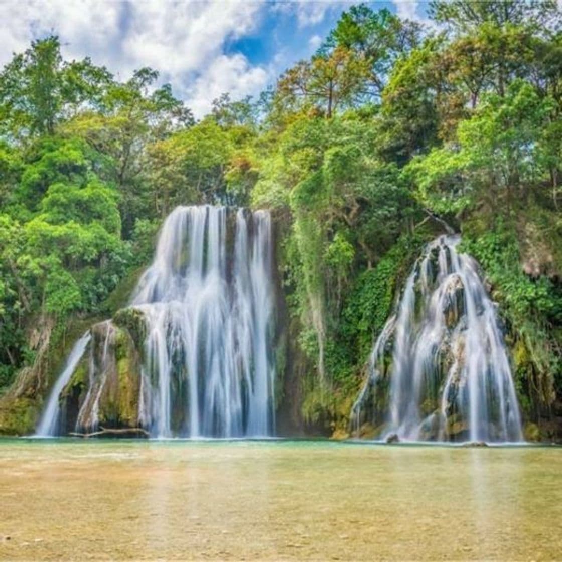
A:
{"type": "Polygon", "coordinates": [[[488,94],[471,119],[461,121],[458,143],[433,149],[406,167],[423,205],[458,212],[486,202],[492,209],[524,201],[546,175],[541,139],[549,114],[531,84],[514,81],[505,97],[488,94]]]}

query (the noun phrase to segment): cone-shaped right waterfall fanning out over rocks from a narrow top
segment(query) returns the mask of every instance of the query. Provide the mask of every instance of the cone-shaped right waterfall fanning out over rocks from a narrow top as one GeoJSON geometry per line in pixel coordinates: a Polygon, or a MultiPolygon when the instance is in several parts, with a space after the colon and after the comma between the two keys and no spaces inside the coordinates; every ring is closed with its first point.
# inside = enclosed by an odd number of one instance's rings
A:
{"type": "Polygon", "coordinates": [[[357,433],[406,441],[522,441],[504,337],[457,236],[428,244],[380,332],[352,409],[357,433]]]}

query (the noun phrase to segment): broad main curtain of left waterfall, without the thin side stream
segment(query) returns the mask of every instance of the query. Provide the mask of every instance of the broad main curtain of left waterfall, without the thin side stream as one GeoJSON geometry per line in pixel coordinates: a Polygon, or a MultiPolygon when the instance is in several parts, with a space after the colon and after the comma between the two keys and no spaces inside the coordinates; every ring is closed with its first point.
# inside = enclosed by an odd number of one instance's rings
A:
{"type": "Polygon", "coordinates": [[[178,207],[132,306],[147,322],[139,421],[160,437],[274,432],[268,212],[178,207]]]}

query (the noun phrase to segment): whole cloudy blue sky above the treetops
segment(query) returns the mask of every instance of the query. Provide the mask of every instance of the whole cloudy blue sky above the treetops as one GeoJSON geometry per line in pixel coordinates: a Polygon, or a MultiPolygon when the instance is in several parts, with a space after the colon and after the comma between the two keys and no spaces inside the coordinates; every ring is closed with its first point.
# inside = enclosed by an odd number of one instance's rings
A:
{"type": "MultiPolygon", "coordinates": [[[[256,95],[309,57],[346,0],[0,0],[0,64],[56,33],[67,58],[90,56],[122,79],[151,66],[197,117],[223,92],[256,95]]],[[[419,0],[367,2],[423,19],[419,0]]]]}

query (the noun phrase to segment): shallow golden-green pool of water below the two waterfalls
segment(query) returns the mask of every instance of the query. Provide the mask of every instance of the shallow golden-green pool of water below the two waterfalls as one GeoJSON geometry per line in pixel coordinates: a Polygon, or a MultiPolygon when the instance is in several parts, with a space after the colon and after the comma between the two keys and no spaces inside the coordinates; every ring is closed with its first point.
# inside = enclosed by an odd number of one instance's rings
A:
{"type": "Polygon", "coordinates": [[[562,448],[0,440],[0,558],[554,560],[562,448]]]}

